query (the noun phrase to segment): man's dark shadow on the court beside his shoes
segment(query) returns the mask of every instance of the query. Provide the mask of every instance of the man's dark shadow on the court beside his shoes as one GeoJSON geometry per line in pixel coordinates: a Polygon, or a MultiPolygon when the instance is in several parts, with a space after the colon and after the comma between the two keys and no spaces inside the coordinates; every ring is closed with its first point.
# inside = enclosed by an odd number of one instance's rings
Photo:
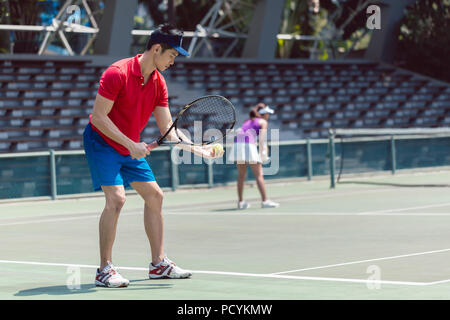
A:
{"type": "Polygon", "coordinates": [[[27,290],[21,290],[14,294],[16,297],[29,297],[29,296],[39,296],[39,295],[51,295],[51,296],[65,296],[65,295],[77,295],[86,293],[95,293],[99,290],[155,290],[155,289],[171,289],[172,284],[140,284],[138,282],[148,281],[148,279],[143,280],[130,280],[130,285],[132,287],[127,288],[102,288],[96,287],[94,284],[82,284],[80,288],[69,289],[66,285],[64,286],[51,286],[51,287],[40,287],[27,290]]]}

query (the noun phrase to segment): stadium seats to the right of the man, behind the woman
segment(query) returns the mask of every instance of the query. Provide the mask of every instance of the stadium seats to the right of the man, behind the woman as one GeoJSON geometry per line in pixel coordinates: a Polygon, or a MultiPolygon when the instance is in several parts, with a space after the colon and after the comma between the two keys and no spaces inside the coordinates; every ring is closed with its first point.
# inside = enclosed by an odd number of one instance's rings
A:
{"type": "Polygon", "coordinates": [[[372,62],[186,62],[171,72],[245,110],[258,102],[270,104],[280,129],[303,138],[325,137],[329,128],[450,124],[447,84],[372,62]]]}

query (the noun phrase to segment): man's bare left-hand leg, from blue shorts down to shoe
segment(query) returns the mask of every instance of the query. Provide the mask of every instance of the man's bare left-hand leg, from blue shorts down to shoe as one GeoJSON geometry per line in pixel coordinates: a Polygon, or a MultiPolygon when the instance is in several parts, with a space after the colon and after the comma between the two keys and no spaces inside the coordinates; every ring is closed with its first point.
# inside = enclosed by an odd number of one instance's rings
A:
{"type": "Polygon", "coordinates": [[[106,204],[100,217],[100,270],[112,261],[112,247],[116,238],[120,210],[125,203],[125,189],[121,186],[102,186],[106,204]]]}

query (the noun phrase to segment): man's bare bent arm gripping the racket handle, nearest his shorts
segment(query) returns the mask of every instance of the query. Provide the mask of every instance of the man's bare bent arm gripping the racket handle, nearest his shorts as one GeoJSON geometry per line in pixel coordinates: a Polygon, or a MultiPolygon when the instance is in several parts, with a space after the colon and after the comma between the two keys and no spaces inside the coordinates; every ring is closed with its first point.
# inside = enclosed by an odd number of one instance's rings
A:
{"type": "Polygon", "coordinates": [[[92,111],[91,123],[105,136],[127,148],[130,151],[131,158],[139,159],[149,154],[150,152],[147,150],[145,143],[135,143],[124,135],[108,117],[108,113],[111,111],[113,105],[114,101],[97,94],[92,111]]]}

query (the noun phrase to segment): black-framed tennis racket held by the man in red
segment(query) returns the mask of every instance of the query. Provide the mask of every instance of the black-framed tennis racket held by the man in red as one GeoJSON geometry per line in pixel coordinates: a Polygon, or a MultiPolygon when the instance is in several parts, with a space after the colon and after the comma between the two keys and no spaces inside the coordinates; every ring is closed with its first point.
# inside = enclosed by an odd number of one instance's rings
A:
{"type": "Polygon", "coordinates": [[[153,150],[161,145],[208,145],[225,137],[236,123],[233,104],[219,95],[204,96],[186,105],[165,134],[147,146],[153,150]],[[167,140],[169,134],[178,138],[167,140]]]}

